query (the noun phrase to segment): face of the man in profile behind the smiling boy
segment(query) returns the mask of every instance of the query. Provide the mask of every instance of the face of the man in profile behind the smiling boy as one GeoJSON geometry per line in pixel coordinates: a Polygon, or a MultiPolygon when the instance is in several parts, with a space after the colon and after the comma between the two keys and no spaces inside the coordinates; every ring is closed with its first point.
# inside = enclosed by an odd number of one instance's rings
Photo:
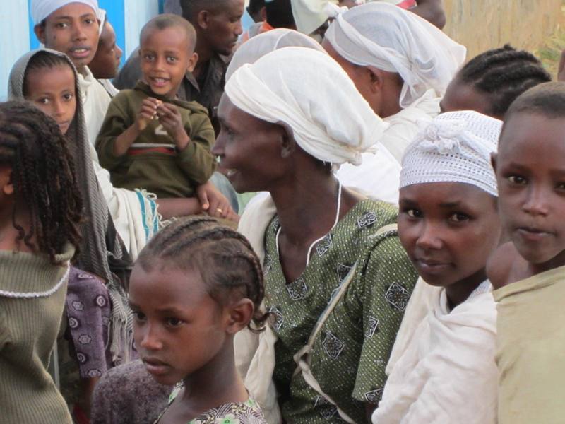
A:
{"type": "MultiPolygon", "coordinates": [[[[214,52],[230,56],[242,35],[242,16],[245,9],[244,0],[228,0],[221,10],[208,13],[206,40],[214,52]]],[[[202,24],[201,24],[202,25],[202,24]]]]}

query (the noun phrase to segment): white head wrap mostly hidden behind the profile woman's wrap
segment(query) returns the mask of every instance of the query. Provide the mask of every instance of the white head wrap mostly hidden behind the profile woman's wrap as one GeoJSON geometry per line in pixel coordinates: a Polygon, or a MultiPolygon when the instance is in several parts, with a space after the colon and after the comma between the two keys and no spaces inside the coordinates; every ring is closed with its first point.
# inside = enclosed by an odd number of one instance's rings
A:
{"type": "Polygon", "coordinates": [[[226,81],[243,64],[254,64],[260,57],[283,47],[308,47],[319,52],[326,52],[319,42],[308,37],[308,35],[301,34],[295,30],[287,30],[286,28],[270,30],[251,37],[235,51],[230,65],[227,66],[225,73],[226,81]]]}

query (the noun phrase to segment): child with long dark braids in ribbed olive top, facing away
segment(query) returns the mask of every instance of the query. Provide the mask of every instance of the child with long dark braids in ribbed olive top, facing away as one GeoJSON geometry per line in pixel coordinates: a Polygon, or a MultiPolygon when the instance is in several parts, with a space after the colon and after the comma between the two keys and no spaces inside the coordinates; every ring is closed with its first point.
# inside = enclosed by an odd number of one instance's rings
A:
{"type": "Polygon", "coordinates": [[[0,415],[71,423],[47,372],[78,253],[82,200],[59,126],[28,102],[0,104],[0,415]]]}

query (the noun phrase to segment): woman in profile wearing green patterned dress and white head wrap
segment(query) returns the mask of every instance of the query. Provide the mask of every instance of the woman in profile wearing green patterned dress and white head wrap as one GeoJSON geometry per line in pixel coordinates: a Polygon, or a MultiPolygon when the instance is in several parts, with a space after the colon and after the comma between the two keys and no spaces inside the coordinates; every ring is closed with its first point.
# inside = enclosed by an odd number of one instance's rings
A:
{"type": "Polygon", "coordinates": [[[263,411],[280,404],[287,422],[366,422],[415,271],[396,208],[345,189],[333,168],[359,165],[386,124],[335,61],[302,47],[241,66],[218,116],[220,170],[238,192],[270,193],[239,228],[263,262],[273,315],[259,340],[237,341],[246,386],[263,411]]]}

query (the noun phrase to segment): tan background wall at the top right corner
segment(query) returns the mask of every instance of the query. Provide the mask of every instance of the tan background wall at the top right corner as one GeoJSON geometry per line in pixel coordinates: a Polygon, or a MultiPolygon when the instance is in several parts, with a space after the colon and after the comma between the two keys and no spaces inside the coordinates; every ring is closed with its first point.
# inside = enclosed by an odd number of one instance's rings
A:
{"type": "Polygon", "coordinates": [[[507,42],[535,50],[564,23],[561,0],[444,0],[446,33],[468,58],[507,42]]]}

